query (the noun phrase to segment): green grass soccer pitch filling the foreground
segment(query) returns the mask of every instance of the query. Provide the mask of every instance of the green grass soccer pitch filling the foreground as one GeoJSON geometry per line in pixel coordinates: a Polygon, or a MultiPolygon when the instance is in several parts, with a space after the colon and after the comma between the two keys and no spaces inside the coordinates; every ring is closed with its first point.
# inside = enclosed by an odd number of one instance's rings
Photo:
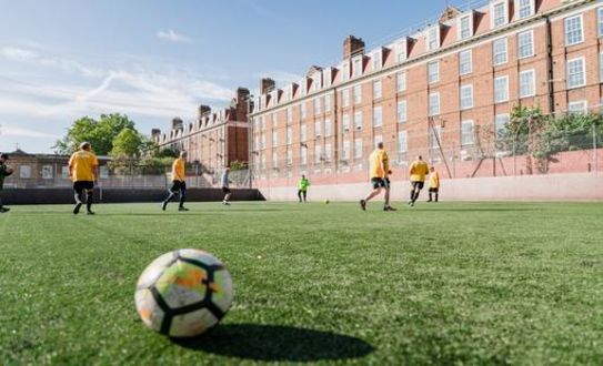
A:
{"type": "Polygon", "coordinates": [[[189,206],[0,215],[0,364],[603,364],[601,204],[189,206]],[[220,257],[235,294],[175,343],[133,293],[182,247],[220,257]]]}

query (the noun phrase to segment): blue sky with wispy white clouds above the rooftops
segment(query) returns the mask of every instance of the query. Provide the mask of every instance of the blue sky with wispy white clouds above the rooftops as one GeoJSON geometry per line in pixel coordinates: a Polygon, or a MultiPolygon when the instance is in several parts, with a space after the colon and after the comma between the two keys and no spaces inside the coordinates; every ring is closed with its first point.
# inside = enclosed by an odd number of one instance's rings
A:
{"type": "MultiPolygon", "coordinates": [[[[465,1],[466,3],[466,1],[465,1]]],[[[225,105],[262,75],[334,65],[438,16],[444,0],[0,0],[0,151],[51,152],[83,115],[125,113],[149,133],[225,105]]]]}

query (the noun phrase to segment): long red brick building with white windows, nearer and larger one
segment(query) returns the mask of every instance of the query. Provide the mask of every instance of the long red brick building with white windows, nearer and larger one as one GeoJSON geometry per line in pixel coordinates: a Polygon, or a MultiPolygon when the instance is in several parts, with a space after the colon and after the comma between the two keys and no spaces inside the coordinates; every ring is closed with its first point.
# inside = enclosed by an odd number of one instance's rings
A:
{"type": "MultiPolygon", "coordinates": [[[[314,185],[366,182],[378,141],[390,152],[394,180],[406,177],[416,154],[456,171],[444,177],[463,177],[475,166],[462,162],[476,160],[476,130],[501,132],[513,106],[599,108],[602,3],[481,3],[450,7],[432,26],[372,50],[350,35],[339,64],[311,67],[299,82],[277,88],[262,80],[251,113],[255,185],[290,187],[302,173],[314,185]],[[450,166],[452,156],[459,166],[450,166]]],[[[491,174],[488,164],[479,167],[491,174]]]]}

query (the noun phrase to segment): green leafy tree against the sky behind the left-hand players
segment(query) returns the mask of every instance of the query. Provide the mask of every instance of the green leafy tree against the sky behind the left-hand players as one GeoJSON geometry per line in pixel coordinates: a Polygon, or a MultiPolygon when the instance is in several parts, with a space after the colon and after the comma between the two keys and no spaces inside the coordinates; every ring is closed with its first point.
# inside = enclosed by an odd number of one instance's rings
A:
{"type": "Polygon", "coordinates": [[[98,155],[109,155],[113,139],[124,129],[135,131],[134,122],[119,113],[101,114],[100,120],[84,116],[76,120],[63,139],[53,146],[59,154],[71,154],[80,143],[88,141],[98,155]]]}

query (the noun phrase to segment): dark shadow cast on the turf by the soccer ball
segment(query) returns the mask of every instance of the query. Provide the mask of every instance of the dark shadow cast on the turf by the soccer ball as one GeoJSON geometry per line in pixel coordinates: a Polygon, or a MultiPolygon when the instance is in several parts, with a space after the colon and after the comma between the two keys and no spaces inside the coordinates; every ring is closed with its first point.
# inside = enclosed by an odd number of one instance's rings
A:
{"type": "Polygon", "coordinates": [[[313,329],[279,325],[225,324],[182,347],[210,354],[267,362],[318,362],[360,358],[374,350],[366,342],[313,329]]]}

